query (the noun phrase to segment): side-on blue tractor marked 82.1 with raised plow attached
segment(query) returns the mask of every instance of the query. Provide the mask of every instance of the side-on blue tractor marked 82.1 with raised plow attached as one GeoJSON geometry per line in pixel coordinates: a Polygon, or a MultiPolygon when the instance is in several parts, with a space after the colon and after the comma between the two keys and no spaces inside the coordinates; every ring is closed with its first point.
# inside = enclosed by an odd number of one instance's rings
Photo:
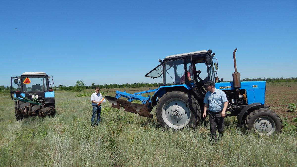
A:
{"type": "Polygon", "coordinates": [[[282,132],[282,120],[265,103],[266,81],[241,82],[236,70],[235,52],[233,52],[235,72],[233,82],[223,82],[217,76],[218,63],[211,50],[196,51],[167,56],[160,64],[147,73],[146,77],[163,79],[158,89],[134,94],[116,91],[116,97],[105,98],[114,108],[153,118],[150,113],[156,106],[158,123],[164,128],[182,129],[196,127],[203,121],[201,111],[204,108],[207,81],[215,81],[216,89],[226,93],[228,109],[226,116],[237,116],[240,125],[260,135],[282,132]],[[154,92],[152,96],[141,96],[154,92]],[[126,97],[123,100],[120,97],[126,97]],[[142,104],[132,103],[140,100],[142,104]]]}

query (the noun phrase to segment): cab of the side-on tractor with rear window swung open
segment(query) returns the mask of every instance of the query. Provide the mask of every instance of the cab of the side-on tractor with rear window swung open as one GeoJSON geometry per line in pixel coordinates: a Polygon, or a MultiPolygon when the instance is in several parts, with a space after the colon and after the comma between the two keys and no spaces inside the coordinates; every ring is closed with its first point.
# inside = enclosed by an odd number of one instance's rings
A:
{"type": "Polygon", "coordinates": [[[196,51],[190,53],[167,56],[161,64],[147,73],[146,77],[163,79],[161,86],[187,84],[197,93],[198,97],[204,97],[206,89],[203,83],[217,80],[217,59],[213,64],[211,50],[196,51]],[[164,73],[165,71],[165,73],[164,73]]]}

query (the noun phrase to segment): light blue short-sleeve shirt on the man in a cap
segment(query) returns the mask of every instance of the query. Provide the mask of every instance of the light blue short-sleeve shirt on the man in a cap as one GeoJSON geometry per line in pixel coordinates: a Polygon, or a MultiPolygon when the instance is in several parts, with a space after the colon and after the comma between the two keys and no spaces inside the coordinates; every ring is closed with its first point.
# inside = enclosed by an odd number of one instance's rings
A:
{"type": "Polygon", "coordinates": [[[215,89],[214,93],[208,91],[204,97],[203,103],[209,104],[208,109],[212,112],[222,111],[224,103],[228,101],[224,91],[215,89]]]}

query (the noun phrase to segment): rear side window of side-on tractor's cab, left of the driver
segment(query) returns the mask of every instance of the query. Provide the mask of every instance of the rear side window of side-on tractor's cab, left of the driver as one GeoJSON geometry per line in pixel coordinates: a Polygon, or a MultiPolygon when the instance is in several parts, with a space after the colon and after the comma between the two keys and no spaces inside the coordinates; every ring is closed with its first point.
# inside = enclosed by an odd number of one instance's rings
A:
{"type": "Polygon", "coordinates": [[[165,62],[165,84],[183,83],[184,74],[184,59],[165,62]]]}

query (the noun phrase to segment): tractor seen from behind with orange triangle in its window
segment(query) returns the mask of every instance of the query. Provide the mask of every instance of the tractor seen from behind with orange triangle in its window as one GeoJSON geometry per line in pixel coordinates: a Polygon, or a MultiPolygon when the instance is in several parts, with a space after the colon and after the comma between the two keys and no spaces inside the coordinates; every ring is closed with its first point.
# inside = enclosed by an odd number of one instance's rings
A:
{"type": "Polygon", "coordinates": [[[11,100],[15,101],[15,118],[20,121],[26,116],[54,116],[55,92],[53,76],[43,72],[26,72],[11,77],[11,100]]]}

